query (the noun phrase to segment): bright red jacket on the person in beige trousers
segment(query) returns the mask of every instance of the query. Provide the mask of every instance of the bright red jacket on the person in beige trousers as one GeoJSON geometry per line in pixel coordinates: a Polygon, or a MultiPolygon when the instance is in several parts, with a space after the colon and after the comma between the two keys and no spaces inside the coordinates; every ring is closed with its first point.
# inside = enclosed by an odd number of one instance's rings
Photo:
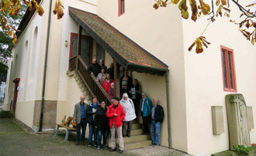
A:
{"type": "Polygon", "coordinates": [[[123,120],[126,117],[126,113],[123,110],[123,107],[118,103],[116,109],[113,107],[114,103],[112,103],[108,111],[106,113],[106,116],[109,117],[109,127],[112,127],[112,124],[115,124],[115,127],[120,127],[123,125],[123,120]],[[117,114],[115,117],[114,114],[117,114]]]}

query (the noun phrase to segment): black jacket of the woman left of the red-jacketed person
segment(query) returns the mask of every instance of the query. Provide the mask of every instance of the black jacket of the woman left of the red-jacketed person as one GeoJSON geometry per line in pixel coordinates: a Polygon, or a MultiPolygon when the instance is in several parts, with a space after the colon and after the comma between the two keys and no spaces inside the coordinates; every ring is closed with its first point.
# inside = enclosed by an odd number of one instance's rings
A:
{"type": "Polygon", "coordinates": [[[97,126],[99,131],[109,130],[109,117],[106,117],[108,108],[99,107],[95,114],[94,125],[97,126]]]}

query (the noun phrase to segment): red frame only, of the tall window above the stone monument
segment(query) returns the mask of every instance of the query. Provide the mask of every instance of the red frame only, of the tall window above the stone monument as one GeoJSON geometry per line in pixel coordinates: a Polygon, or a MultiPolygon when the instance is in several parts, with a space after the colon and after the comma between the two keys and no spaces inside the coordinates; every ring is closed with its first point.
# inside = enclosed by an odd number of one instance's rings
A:
{"type": "Polygon", "coordinates": [[[221,65],[222,65],[222,75],[223,75],[223,90],[227,92],[237,93],[237,80],[236,80],[236,70],[234,66],[234,50],[229,49],[225,46],[220,46],[220,56],[221,56],[221,65]],[[227,77],[227,87],[225,86],[225,76],[224,76],[224,63],[223,63],[223,52],[226,66],[226,77],[227,77]],[[230,64],[228,62],[228,54],[230,54],[230,64]],[[231,88],[230,83],[230,68],[231,68],[231,82],[233,88],[231,88]]]}

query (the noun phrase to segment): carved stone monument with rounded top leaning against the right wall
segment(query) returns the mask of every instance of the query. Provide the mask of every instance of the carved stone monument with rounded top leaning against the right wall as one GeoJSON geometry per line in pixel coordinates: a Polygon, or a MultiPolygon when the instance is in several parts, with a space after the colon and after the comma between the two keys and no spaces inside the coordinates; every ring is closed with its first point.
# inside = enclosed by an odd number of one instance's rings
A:
{"type": "Polygon", "coordinates": [[[242,94],[226,96],[227,121],[230,136],[230,149],[233,144],[250,144],[250,135],[247,120],[247,107],[242,94]]]}

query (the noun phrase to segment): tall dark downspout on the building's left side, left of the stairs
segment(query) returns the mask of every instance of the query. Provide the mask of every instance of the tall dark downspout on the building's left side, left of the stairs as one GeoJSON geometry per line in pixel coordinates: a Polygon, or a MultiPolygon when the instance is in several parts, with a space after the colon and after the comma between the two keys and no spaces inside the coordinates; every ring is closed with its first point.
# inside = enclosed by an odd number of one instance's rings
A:
{"type": "Polygon", "coordinates": [[[52,6],[52,0],[50,0],[49,15],[48,15],[47,46],[46,46],[45,56],[44,56],[43,90],[42,90],[41,112],[40,112],[40,127],[39,127],[38,131],[42,131],[42,128],[43,128],[44,92],[45,92],[45,83],[46,83],[46,79],[47,79],[47,59],[48,59],[48,50],[49,50],[51,6],[52,6]]]}

